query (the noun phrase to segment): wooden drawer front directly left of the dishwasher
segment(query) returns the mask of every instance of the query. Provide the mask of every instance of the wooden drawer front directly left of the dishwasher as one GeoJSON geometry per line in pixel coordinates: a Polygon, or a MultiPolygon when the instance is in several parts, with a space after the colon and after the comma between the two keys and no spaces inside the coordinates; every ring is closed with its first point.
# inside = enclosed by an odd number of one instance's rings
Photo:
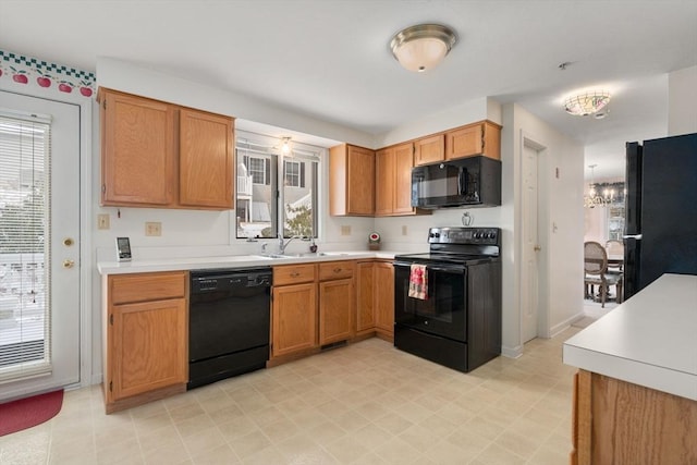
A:
{"type": "Polygon", "coordinates": [[[109,277],[111,304],[184,297],[186,274],[186,271],[174,271],[111,276],[109,277]]]}

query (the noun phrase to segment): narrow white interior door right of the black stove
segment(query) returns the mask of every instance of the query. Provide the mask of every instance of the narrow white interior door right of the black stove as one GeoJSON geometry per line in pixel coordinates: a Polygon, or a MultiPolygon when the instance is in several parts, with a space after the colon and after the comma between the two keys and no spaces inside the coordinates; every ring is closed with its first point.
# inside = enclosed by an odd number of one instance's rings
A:
{"type": "Polygon", "coordinates": [[[523,269],[521,289],[523,343],[538,335],[539,318],[539,269],[540,250],[538,235],[538,152],[523,146],[523,269]]]}

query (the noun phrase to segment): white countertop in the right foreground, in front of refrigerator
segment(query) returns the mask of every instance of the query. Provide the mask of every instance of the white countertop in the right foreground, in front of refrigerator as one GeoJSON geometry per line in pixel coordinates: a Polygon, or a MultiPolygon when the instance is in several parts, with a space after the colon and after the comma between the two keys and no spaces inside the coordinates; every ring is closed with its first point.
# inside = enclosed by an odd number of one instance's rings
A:
{"type": "Polygon", "coordinates": [[[663,274],[564,342],[563,359],[697,401],[697,276],[663,274]]]}

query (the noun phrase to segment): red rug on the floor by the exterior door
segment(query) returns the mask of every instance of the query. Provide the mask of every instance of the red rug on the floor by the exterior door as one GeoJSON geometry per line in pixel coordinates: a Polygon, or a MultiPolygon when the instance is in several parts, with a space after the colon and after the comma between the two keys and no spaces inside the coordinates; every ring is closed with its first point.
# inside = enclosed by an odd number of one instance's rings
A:
{"type": "Polygon", "coordinates": [[[62,406],[62,389],[0,404],[0,436],[48,421],[61,411],[62,406]]]}

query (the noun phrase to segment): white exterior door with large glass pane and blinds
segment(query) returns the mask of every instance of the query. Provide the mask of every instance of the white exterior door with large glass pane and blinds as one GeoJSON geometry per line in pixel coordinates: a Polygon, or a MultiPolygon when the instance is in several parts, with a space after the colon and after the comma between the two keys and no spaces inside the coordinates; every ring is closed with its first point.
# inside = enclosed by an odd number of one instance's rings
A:
{"type": "MultiPolygon", "coordinates": [[[[30,248],[30,253],[17,253],[17,247],[15,250],[0,249],[0,258],[3,259],[0,273],[5,278],[5,285],[0,284],[0,301],[8,307],[14,306],[14,311],[7,308],[4,321],[0,320],[0,351],[4,350],[5,354],[8,347],[15,353],[23,351],[27,343],[17,342],[17,338],[26,339],[26,334],[34,334],[35,329],[38,338],[45,336],[45,341],[50,341],[41,351],[46,358],[42,368],[37,368],[38,364],[33,365],[32,360],[17,363],[16,358],[4,357],[5,363],[14,359],[16,369],[13,371],[7,364],[0,366],[0,376],[4,375],[0,379],[2,401],[80,382],[80,107],[0,91],[0,114],[16,119],[21,122],[17,124],[26,122],[27,127],[33,123],[50,126],[46,166],[35,157],[35,166],[27,167],[21,162],[14,175],[12,162],[8,161],[5,179],[0,180],[0,196],[4,195],[0,201],[3,210],[0,211],[7,211],[13,203],[21,205],[32,195],[21,192],[23,185],[35,182],[25,180],[26,176],[44,180],[38,184],[41,186],[38,191],[48,193],[47,196],[41,195],[47,205],[34,210],[39,211],[38,223],[42,224],[40,233],[35,234],[40,246],[30,248]],[[13,175],[16,179],[10,179],[13,175]],[[48,185],[44,187],[44,183],[48,185]],[[9,279],[10,273],[12,279],[9,279]],[[8,282],[21,284],[7,285],[8,282]],[[17,336],[17,333],[24,335],[17,336]]],[[[26,150],[27,145],[22,147],[26,150]]],[[[0,163],[7,161],[10,151],[3,155],[5,160],[0,160],[0,163]]],[[[25,208],[22,211],[27,211],[26,207],[22,208],[25,208]]],[[[26,236],[23,234],[16,236],[26,236]]],[[[29,342],[34,348],[41,345],[40,339],[38,344],[37,341],[29,342]]]]}

